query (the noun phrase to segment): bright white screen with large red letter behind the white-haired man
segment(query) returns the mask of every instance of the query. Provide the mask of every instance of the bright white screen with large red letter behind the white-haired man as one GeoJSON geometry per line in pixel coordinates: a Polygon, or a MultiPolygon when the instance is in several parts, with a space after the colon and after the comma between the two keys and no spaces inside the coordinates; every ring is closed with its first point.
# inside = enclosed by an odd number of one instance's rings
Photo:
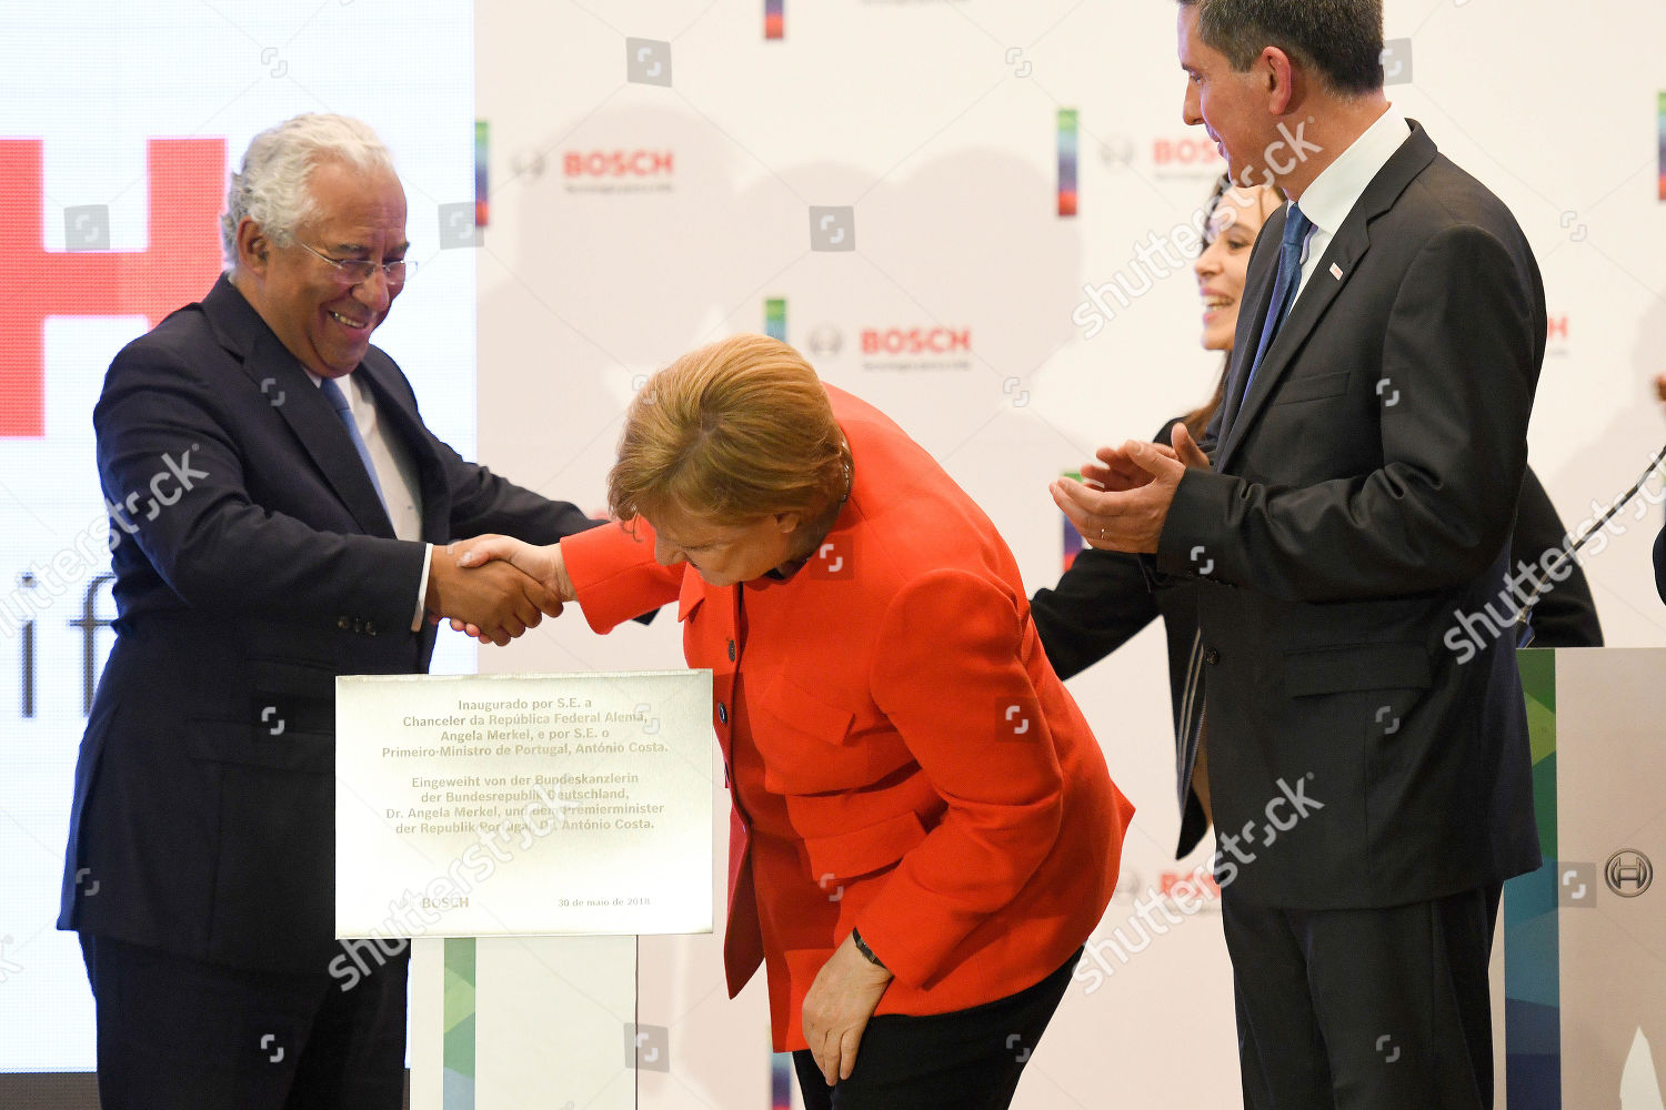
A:
{"type": "MultiPolygon", "coordinates": [[[[93,1065],[80,950],[53,919],[115,609],[122,533],[92,434],[103,371],[213,285],[248,140],[345,111],[393,148],[421,266],[377,341],[428,424],[473,451],[475,273],[440,235],[440,206],[473,200],[471,15],[441,0],[0,3],[0,1072],[93,1065]]],[[[473,652],[446,637],[436,664],[473,652]]]]}

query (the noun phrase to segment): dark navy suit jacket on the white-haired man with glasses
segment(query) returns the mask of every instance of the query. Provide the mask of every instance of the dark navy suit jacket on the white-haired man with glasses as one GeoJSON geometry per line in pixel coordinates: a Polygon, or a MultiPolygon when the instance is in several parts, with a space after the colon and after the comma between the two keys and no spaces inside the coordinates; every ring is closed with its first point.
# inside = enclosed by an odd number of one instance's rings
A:
{"type": "MultiPolygon", "coordinates": [[[[436,439],[383,351],[353,373],[416,464],[423,541],[593,524],[436,439]]],[[[328,401],[225,278],[117,354],[93,424],[105,498],[137,531],[112,529],[117,641],[58,927],[323,972],[335,677],[426,671],[435,629],[410,631],[423,544],[395,539],[328,401]]]]}

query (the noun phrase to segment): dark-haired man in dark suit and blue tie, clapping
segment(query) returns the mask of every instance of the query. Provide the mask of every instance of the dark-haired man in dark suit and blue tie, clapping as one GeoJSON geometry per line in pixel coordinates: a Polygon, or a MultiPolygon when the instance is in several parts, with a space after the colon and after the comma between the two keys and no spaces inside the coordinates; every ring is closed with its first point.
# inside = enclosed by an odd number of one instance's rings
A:
{"type": "Polygon", "coordinates": [[[1186,120],[1293,205],[1203,449],[1130,441],[1103,491],[1055,486],[1090,543],[1200,582],[1258,1110],[1489,1107],[1499,889],[1539,865],[1514,644],[1448,634],[1508,597],[1544,293],[1504,205],[1388,103],[1381,50],[1374,0],[1181,0],[1186,120]]]}

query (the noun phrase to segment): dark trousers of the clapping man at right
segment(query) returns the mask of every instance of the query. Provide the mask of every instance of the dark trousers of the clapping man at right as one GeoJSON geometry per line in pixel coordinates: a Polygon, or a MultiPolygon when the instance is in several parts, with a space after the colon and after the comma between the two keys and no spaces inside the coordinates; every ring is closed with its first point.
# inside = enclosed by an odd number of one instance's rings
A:
{"type": "Polygon", "coordinates": [[[1369,910],[1221,895],[1248,1110],[1489,1110],[1501,887],[1369,910]]]}

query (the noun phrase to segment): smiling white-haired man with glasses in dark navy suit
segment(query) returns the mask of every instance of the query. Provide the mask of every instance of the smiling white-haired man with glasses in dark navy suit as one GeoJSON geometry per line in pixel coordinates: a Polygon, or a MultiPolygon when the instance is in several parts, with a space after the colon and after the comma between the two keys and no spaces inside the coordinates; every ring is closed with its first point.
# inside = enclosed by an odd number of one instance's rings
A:
{"type": "Polygon", "coordinates": [[[413,268],[370,128],[257,136],[222,233],[228,275],[115,358],[93,411],[118,619],[58,927],[105,1110],[393,1108],[407,954],[330,972],[335,677],[426,671],[428,614],[506,642],[560,611],[506,562],[456,567],[451,538],[593,523],[465,463],[370,346],[413,268]]]}

